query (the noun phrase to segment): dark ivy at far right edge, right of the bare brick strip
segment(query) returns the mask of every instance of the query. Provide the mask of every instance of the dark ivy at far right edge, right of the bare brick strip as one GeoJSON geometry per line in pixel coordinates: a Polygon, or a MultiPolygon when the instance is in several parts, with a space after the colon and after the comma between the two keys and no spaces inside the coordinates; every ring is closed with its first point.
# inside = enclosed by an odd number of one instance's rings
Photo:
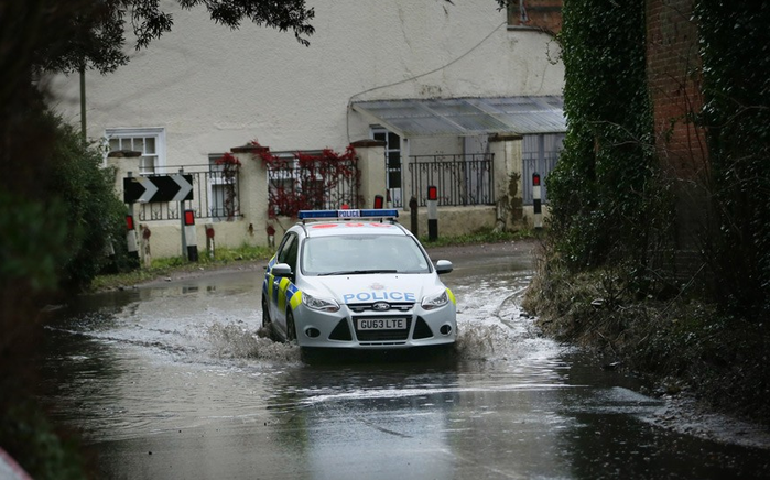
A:
{"type": "Polygon", "coordinates": [[[701,121],[713,221],[704,242],[712,293],[728,312],[770,314],[770,3],[699,0],[701,121]]]}

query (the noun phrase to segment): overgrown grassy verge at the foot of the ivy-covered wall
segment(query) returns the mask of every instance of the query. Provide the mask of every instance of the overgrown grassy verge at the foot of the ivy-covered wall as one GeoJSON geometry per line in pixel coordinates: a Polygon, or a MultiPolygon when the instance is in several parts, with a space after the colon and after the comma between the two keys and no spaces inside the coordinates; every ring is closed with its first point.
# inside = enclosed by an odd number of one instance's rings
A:
{"type": "MultiPolygon", "coordinates": [[[[546,255],[546,253],[544,253],[546,255]]],[[[539,261],[523,307],[542,330],[660,394],[692,394],[716,410],[770,425],[770,336],[686,291],[639,296],[617,268],[571,273],[539,261]]]]}

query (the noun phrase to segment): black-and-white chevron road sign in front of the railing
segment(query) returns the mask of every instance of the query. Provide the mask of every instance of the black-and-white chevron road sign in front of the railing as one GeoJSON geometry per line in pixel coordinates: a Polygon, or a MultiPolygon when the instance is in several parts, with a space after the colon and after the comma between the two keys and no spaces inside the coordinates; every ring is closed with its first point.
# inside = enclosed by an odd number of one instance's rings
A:
{"type": "Polygon", "coordinates": [[[193,199],[193,175],[130,176],[123,178],[126,204],[184,201],[193,199]]]}

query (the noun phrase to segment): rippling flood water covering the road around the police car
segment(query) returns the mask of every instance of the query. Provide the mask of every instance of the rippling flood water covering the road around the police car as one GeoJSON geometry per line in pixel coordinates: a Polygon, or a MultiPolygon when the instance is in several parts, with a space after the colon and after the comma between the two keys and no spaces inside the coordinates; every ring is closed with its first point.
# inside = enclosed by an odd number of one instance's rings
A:
{"type": "Polygon", "coordinates": [[[307,363],[257,335],[261,270],[212,273],[65,308],[45,400],[100,478],[770,477],[767,449],[662,428],[663,399],[540,337],[528,249],[447,260],[452,354],[307,363]]]}

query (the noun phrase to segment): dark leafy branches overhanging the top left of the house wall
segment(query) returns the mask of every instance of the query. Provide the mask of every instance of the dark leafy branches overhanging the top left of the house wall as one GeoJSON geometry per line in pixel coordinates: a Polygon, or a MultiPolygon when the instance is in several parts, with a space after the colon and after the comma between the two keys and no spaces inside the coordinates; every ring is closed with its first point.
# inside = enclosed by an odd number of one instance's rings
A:
{"type": "MultiPolygon", "coordinates": [[[[182,9],[205,7],[216,23],[237,29],[245,21],[280,31],[292,30],[308,45],[315,15],[305,0],[177,0],[182,9]]],[[[158,0],[1,0],[0,43],[42,70],[82,68],[115,72],[129,61],[126,32],[137,50],[171,31],[174,19],[158,0]],[[31,29],[31,30],[30,30],[31,29]]],[[[3,64],[13,61],[2,56],[3,64]]],[[[6,65],[2,65],[6,67],[6,65]]],[[[6,70],[8,72],[8,70],[6,70]]],[[[22,78],[28,77],[19,70],[22,78]]]]}

